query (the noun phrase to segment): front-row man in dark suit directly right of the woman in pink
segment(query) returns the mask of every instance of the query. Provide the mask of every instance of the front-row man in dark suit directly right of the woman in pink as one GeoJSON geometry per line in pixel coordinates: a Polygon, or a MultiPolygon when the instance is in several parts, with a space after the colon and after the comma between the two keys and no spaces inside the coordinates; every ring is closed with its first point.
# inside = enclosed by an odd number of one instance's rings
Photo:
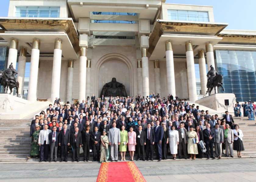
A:
{"type": "Polygon", "coordinates": [[[136,134],[136,143],[137,143],[137,153],[138,153],[137,161],[145,160],[144,145],[146,145],[146,135],[145,135],[145,132],[142,131],[141,125],[138,127],[138,131],[136,134]]]}

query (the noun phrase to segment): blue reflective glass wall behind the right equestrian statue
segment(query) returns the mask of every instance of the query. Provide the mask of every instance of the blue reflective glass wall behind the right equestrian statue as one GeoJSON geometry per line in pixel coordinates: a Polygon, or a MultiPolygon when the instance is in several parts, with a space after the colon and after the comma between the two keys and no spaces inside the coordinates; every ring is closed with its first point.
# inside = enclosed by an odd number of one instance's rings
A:
{"type": "Polygon", "coordinates": [[[234,93],[236,101],[256,101],[256,52],[216,50],[215,54],[225,89],[219,93],[234,93]]]}

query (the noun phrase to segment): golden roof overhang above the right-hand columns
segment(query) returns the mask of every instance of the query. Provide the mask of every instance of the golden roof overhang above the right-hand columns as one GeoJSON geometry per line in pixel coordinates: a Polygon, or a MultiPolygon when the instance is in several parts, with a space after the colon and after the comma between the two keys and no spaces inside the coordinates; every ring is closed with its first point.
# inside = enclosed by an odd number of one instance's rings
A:
{"type": "MultiPolygon", "coordinates": [[[[152,54],[163,34],[190,34],[216,36],[227,26],[227,23],[188,22],[174,20],[160,20],[155,22],[153,31],[149,36],[148,52],[152,54]]],[[[189,40],[189,39],[188,39],[189,40]]],[[[211,41],[211,40],[209,40],[211,41]]],[[[209,42],[208,41],[208,42],[209,42]]]]}

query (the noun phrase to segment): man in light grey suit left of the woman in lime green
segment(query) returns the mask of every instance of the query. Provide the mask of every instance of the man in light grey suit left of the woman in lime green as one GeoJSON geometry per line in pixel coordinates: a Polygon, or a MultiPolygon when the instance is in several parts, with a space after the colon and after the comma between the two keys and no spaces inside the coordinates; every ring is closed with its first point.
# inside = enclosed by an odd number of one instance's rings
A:
{"type": "Polygon", "coordinates": [[[120,145],[120,130],[116,128],[116,122],[112,123],[112,128],[108,132],[108,141],[110,145],[110,156],[111,162],[115,160],[117,162],[118,158],[118,145],[120,145]]]}

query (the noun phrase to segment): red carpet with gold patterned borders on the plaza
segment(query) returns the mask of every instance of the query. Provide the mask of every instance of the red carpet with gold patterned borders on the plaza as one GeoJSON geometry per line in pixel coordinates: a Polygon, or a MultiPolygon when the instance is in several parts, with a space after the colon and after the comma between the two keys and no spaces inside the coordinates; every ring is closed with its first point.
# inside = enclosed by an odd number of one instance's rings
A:
{"type": "Polygon", "coordinates": [[[134,162],[101,163],[97,182],[146,182],[134,162]]]}

